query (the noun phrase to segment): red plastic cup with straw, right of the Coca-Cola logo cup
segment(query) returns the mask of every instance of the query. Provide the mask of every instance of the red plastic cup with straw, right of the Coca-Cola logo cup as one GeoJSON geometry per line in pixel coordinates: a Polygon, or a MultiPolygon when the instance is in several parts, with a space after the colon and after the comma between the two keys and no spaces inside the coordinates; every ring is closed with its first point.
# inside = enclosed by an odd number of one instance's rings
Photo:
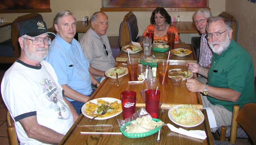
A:
{"type": "Polygon", "coordinates": [[[146,91],[146,111],[153,117],[158,118],[160,91],[149,89],[146,91]]]}

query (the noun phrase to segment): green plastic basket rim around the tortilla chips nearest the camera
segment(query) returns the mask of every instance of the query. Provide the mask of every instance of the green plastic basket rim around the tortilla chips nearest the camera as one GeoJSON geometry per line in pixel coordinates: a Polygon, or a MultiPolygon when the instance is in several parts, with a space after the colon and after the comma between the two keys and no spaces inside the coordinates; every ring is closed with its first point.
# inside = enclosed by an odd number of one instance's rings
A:
{"type": "MultiPolygon", "coordinates": [[[[161,121],[161,120],[156,119],[156,118],[152,118],[152,120],[154,120],[154,121],[156,121],[156,122],[161,121]]],[[[125,123],[124,126],[130,125],[130,123],[133,122],[133,121],[135,121],[135,120],[132,120],[132,121],[130,121],[130,122],[125,123]]],[[[124,136],[126,136],[126,137],[129,137],[129,138],[140,138],[140,137],[145,137],[145,136],[152,135],[152,134],[158,132],[160,129],[161,129],[161,127],[157,127],[157,128],[154,129],[154,130],[151,130],[151,131],[148,131],[148,132],[145,132],[145,133],[139,133],[139,134],[130,134],[130,133],[126,133],[126,132],[124,132],[124,130],[123,130],[122,128],[120,128],[120,131],[121,131],[121,132],[124,134],[124,136]]]]}

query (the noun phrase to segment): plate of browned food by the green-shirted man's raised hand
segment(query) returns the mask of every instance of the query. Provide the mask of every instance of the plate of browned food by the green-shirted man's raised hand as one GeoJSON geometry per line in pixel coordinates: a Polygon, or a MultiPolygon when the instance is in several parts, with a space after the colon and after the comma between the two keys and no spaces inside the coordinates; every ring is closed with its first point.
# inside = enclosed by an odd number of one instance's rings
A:
{"type": "Polygon", "coordinates": [[[182,77],[182,80],[186,78],[191,78],[193,76],[193,73],[190,70],[187,69],[170,69],[168,77],[175,77],[180,76],[182,77]]]}

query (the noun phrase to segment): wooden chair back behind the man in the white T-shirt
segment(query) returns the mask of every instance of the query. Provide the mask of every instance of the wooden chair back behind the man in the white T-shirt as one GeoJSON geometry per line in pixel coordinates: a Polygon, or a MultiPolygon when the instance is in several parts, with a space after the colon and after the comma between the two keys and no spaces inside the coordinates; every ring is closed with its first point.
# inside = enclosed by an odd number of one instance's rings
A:
{"type": "Polygon", "coordinates": [[[14,120],[12,119],[9,110],[7,111],[6,117],[7,117],[8,134],[9,134],[10,143],[11,145],[18,145],[18,138],[16,134],[16,129],[14,127],[14,120]]]}

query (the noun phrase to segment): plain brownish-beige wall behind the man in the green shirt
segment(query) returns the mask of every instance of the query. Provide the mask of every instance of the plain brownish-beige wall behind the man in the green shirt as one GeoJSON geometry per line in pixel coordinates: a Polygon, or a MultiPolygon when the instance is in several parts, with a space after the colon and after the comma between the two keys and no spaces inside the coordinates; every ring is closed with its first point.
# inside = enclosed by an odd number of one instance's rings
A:
{"type": "Polygon", "coordinates": [[[236,41],[252,56],[256,74],[256,4],[247,0],[226,0],[226,12],[236,19],[236,41]]]}

